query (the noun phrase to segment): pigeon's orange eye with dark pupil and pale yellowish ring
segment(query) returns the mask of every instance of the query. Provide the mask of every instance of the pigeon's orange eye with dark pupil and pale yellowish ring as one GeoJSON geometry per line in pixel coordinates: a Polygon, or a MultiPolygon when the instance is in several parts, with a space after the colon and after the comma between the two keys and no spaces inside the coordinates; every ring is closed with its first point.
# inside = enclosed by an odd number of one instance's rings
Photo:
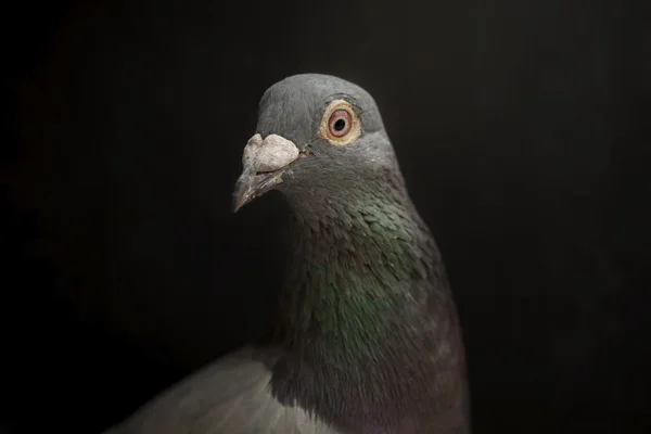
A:
{"type": "Polygon", "coordinates": [[[335,146],[345,146],[357,140],[361,127],[353,105],[345,100],[332,101],[323,113],[319,132],[335,146]]]}

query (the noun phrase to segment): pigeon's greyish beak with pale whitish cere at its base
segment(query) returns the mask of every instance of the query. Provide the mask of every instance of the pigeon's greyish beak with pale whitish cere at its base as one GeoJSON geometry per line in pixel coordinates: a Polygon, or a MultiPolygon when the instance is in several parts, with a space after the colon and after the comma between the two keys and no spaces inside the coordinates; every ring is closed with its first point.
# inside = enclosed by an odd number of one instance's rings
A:
{"type": "Polygon", "coordinates": [[[299,155],[298,148],[284,137],[260,135],[248,139],[242,156],[244,170],[235,182],[233,213],[282,182],[282,174],[299,155]]]}

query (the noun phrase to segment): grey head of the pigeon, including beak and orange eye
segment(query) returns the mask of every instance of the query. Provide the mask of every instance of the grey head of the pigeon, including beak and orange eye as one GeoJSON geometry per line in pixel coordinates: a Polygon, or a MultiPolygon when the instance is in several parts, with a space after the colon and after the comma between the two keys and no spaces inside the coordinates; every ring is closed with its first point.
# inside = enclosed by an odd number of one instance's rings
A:
{"type": "Polygon", "coordinates": [[[333,196],[382,179],[395,156],[373,98],[344,79],[302,74],[271,86],[244,148],[234,210],[271,189],[333,196]],[[362,182],[363,181],[363,182],[362,182]]]}

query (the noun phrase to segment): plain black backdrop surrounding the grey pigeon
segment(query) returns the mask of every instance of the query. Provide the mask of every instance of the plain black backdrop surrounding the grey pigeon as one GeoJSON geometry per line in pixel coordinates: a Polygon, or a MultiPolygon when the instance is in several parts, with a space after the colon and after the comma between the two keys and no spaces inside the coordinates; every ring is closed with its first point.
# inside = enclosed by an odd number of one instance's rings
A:
{"type": "Polygon", "coordinates": [[[380,105],[475,433],[648,432],[644,4],[7,7],[0,431],[100,432],[259,332],[286,209],[233,182],[264,90],[318,72],[380,105]]]}

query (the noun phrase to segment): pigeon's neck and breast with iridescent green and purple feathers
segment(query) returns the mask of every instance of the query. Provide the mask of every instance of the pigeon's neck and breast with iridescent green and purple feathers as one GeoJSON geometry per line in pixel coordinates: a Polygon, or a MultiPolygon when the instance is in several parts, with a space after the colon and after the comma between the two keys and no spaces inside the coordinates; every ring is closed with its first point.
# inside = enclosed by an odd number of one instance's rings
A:
{"type": "Polygon", "coordinates": [[[275,396],[361,430],[398,426],[436,387],[457,393],[432,380],[442,369],[459,378],[462,349],[436,246],[408,197],[379,189],[293,206],[275,396]]]}

